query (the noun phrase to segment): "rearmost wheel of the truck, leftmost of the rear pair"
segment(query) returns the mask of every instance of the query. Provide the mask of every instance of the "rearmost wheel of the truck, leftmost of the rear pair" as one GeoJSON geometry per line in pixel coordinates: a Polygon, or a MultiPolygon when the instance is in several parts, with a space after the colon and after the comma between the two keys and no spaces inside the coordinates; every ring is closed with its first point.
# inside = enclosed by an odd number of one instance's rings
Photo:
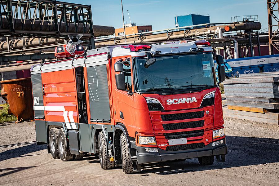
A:
{"type": "Polygon", "coordinates": [[[54,159],[59,159],[59,153],[58,153],[58,132],[59,129],[57,128],[51,128],[49,130],[49,135],[48,135],[48,144],[49,148],[51,151],[51,156],[54,159]]]}

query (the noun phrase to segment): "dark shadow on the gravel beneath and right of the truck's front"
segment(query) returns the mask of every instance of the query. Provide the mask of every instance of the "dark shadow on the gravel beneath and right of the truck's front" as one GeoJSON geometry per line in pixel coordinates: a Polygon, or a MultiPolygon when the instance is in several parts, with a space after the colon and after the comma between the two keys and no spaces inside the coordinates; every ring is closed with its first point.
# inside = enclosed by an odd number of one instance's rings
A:
{"type": "Polygon", "coordinates": [[[279,139],[226,136],[226,142],[228,145],[226,162],[216,162],[216,158],[210,166],[201,166],[197,158],[181,162],[162,162],[142,166],[139,174],[142,176],[148,176],[148,173],[169,175],[279,162],[279,139]]]}

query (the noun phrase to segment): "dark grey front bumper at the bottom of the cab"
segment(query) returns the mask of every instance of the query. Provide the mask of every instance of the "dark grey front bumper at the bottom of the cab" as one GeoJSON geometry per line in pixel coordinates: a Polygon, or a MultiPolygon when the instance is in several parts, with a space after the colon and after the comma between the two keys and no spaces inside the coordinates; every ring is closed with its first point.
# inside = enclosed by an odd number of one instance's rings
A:
{"type": "MultiPolygon", "coordinates": [[[[221,139],[220,139],[221,140],[221,139]]],[[[170,160],[179,160],[179,159],[189,159],[202,156],[215,156],[215,155],[224,155],[228,153],[228,148],[226,145],[226,139],[223,139],[223,143],[212,146],[212,143],[206,145],[203,148],[195,148],[189,150],[179,150],[179,151],[166,151],[161,148],[158,148],[157,153],[147,152],[145,147],[136,147],[137,148],[137,161],[138,164],[146,163],[155,163],[155,162],[164,162],[170,160]]]]}

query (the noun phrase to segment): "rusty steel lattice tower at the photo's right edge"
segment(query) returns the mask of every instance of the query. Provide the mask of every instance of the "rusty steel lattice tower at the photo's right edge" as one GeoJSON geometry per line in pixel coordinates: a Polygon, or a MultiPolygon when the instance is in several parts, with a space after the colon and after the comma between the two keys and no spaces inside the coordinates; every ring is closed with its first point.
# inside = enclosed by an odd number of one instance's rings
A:
{"type": "Polygon", "coordinates": [[[267,7],[269,54],[272,55],[273,48],[279,51],[279,0],[267,0],[267,7]]]}

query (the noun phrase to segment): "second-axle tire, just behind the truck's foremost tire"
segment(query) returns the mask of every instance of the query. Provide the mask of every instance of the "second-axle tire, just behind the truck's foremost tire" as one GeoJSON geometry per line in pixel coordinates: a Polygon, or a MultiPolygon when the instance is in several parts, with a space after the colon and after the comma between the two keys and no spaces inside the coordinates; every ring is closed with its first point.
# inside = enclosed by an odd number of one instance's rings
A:
{"type": "Polygon", "coordinates": [[[100,157],[100,165],[102,169],[111,169],[115,166],[114,161],[110,161],[110,158],[107,156],[107,145],[106,140],[104,138],[104,133],[100,132],[98,136],[98,146],[99,146],[99,157],[100,157]]]}

